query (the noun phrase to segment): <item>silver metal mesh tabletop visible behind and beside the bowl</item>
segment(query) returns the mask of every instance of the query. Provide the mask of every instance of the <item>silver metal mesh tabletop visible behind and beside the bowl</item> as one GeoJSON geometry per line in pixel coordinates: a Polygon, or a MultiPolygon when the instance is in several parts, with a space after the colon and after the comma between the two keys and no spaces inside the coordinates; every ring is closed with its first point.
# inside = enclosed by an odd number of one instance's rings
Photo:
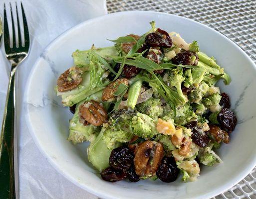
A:
{"type": "MultiPolygon", "coordinates": [[[[107,0],[108,12],[154,10],[204,23],[238,44],[256,63],[256,0],[107,0]]],[[[256,168],[214,199],[256,199],[256,168]]]]}

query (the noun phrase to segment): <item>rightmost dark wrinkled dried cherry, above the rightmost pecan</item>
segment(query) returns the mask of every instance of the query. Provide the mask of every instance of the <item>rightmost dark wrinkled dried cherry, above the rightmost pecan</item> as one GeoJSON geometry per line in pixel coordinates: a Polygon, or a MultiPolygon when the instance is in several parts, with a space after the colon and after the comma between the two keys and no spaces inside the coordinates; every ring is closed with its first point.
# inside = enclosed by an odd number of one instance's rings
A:
{"type": "Polygon", "coordinates": [[[237,125],[237,117],[235,113],[228,108],[221,109],[219,115],[217,116],[217,120],[221,127],[227,129],[228,132],[232,132],[237,125]]]}

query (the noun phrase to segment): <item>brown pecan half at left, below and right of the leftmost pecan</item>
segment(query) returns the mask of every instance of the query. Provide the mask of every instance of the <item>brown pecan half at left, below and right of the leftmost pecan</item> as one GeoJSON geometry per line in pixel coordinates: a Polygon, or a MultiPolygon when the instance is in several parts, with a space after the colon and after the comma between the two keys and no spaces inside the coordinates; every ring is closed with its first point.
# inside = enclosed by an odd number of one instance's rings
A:
{"type": "Polygon", "coordinates": [[[107,121],[107,112],[97,101],[84,102],[79,107],[79,116],[94,126],[100,126],[107,121]]]}

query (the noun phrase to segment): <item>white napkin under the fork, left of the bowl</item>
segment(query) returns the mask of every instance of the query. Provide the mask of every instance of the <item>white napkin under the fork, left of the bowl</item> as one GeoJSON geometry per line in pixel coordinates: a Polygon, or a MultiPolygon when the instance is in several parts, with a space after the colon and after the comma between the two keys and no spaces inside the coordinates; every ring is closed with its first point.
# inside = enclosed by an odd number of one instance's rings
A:
{"type": "MultiPolygon", "coordinates": [[[[9,1],[3,0],[3,2],[8,7],[9,1]]],[[[14,7],[15,1],[11,2],[14,7]]],[[[2,6],[2,1],[0,4],[2,6]]],[[[17,74],[19,198],[97,199],[96,196],[62,177],[42,156],[26,126],[22,101],[29,72],[45,46],[68,28],[86,19],[107,14],[106,2],[105,0],[22,0],[22,4],[28,21],[31,48],[29,56],[19,66],[17,74]]],[[[3,15],[2,7],[0,11],[3,15]]],[[[9,68],[2,45],[0,53],[0,119],[2,119],[9,68]]]]}

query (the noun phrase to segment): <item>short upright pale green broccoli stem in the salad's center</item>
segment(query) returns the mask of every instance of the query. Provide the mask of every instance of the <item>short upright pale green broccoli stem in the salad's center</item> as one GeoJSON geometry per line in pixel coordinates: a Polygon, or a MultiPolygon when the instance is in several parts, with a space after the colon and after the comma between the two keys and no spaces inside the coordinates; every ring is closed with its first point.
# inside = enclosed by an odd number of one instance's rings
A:
{"type": "Polygon", "coordinates": [[[140,95],[141,85],[142,81],[138,80],[130,86],[128,91],[127,106],[130,106],[131,108],[135,107],[138,97],[140,95]]]}

